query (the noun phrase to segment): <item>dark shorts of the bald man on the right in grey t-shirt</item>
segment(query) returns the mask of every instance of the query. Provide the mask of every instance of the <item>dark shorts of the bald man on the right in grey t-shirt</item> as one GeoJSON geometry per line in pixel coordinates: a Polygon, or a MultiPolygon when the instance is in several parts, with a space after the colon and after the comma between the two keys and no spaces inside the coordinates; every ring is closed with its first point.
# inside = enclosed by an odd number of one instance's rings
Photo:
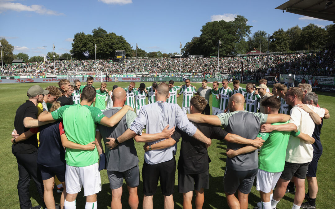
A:
{"type": "Polygon", "coordinates": [[[223,179],[224,192],[234,194],[237,190],[243,194],[251,192],[258,169],[250,171],[235,171],[226,166],[223,179]]]}

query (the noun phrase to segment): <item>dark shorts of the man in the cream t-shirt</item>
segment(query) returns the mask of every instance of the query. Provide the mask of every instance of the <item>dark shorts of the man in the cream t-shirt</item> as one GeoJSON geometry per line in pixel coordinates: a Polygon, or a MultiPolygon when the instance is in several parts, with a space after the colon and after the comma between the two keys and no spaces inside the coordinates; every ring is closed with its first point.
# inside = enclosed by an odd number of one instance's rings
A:
{"type": "Polygon", "coordinates": [[[281,173],[280,178],[284,180],[291,180],[293,176],[299,179],[305,179],[308,163],[288,163],[285,161],[284,171],[281,173]]]}

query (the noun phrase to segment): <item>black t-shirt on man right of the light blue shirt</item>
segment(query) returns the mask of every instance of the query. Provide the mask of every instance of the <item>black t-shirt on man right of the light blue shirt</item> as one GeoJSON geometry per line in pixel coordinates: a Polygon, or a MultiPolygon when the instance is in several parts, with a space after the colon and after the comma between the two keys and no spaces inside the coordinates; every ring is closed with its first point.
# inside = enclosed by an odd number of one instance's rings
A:
{"type": "MultiPolygon", "coordinates": [[[[191,121],[192,122],[192,121],[191,121]]],[[[213,126],[206,123],[192,122],[205,136],[210,139],[224,139],[228,134],[220,126],[213,126]]],[[[182,174],[201,174],[209,169],[210,159],[205,143],[189,136],[178,127],[171,136],[177,142],[182,137],[180,156],[178,161],[178,171],[182,174]]]]}

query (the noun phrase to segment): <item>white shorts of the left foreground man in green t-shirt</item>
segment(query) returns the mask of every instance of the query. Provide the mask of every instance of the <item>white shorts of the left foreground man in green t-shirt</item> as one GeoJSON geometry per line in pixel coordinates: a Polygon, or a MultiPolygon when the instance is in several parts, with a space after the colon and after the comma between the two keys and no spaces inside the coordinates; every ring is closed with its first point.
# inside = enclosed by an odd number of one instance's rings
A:
{"type": "Polygon", "coordinates": [[[98,163],[85,167],[66,165],[66,192],[76,194],[84,186],[84,196],[94,195],[101,191],[101,179],[98,163]]]}

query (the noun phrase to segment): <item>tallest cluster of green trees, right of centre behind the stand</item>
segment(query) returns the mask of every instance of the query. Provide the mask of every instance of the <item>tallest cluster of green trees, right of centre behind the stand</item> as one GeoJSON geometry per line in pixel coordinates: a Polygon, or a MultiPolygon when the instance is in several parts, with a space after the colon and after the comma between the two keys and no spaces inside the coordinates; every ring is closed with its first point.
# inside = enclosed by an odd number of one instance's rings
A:
{"type": "Polygon", "coordinates": [[[252,26],[247,25],[247,19],[237,15],[233,21],[213,21],[202,26],[201,35],[193,37],[182,49],[184,56],[203,55],[217,56],[218,42],[221,40],[220,56],[236,55],[247,52],[245,38],[250,34],[252,26]]]}

